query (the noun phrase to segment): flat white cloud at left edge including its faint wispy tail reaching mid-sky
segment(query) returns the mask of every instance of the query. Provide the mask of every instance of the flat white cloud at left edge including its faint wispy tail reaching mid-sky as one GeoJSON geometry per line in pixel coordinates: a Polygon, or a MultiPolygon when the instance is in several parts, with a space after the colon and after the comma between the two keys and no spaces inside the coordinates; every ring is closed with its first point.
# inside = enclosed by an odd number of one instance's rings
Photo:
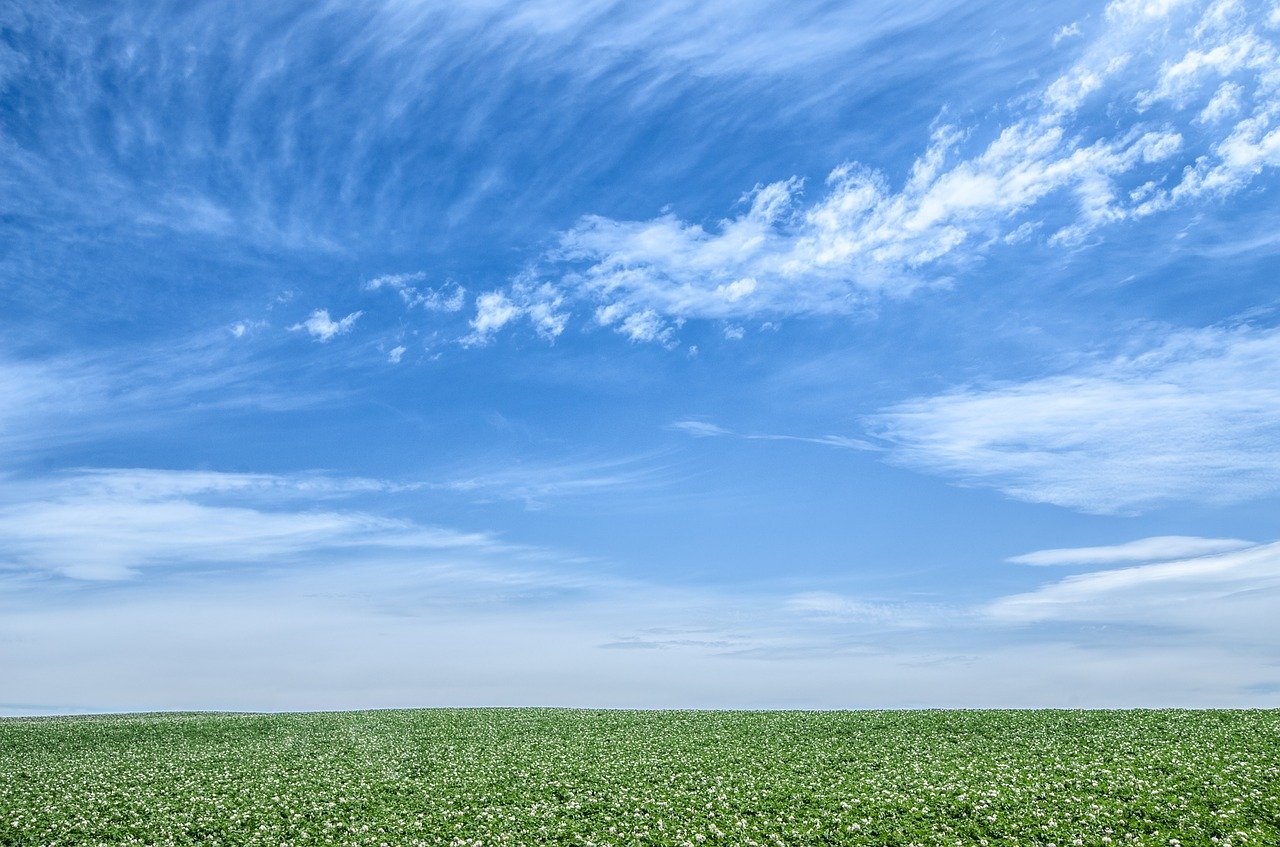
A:
{"type": "Polygon", "coordinates": [[[356,499],[447,491],[541,508],[553,499],[662,485],[636,462],[504,468],[438,482],[325,473],[81,468],[0,486],[0,571],[119,581],[150,569],[274,568],[326,562],[559,560],[485,532],[352,507],[356,499]]]}

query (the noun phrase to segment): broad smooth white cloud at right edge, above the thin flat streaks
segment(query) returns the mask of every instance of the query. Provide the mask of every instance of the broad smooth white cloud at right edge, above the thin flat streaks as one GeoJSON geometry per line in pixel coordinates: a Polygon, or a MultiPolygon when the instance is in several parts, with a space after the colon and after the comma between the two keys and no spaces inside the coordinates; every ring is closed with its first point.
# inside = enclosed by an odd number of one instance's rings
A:
{"type": "Polygon", "coordinates": [[[1176,333],[1075,374],[961,388],[868,420],[896,461],[1085,512],[1280,491],[1280,329],[1176,333]]]}

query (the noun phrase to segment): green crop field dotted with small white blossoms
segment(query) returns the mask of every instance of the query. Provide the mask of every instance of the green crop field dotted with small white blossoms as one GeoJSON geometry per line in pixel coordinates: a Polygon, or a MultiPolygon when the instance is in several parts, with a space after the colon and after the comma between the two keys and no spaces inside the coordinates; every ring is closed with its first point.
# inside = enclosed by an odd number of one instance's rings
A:
{"type": "Polygon", "coordinates": [[[0,720],[0,844],[1280,844],[1277,711],[0,720]]]}

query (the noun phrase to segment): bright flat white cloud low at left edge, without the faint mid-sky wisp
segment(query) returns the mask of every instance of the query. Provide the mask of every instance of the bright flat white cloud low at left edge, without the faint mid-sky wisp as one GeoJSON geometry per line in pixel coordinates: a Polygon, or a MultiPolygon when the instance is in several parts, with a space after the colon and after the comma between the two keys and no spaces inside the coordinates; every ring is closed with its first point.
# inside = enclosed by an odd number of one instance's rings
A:
{"type": "Polygon", "coordinates": [[[147,568],[271,567],[303,555],[316,562],[357,548],[515,549],[481,534],[315,508],[317,500],[392,487],[371,480],[147,470],[9,485],[0,500],[0,564],[124,580],[147,568]],[[307,505],[298,508],[298,500],[307,505]]]}

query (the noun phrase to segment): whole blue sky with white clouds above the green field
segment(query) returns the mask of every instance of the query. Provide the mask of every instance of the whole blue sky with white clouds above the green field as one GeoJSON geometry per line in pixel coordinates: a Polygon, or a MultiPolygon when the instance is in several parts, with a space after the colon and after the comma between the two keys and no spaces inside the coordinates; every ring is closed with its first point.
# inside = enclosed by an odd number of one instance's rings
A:
{"type": "Polygon", "coordinates": [[[1280,5],[0,1],[0,714],[1280,705],[1280,5]]]}

